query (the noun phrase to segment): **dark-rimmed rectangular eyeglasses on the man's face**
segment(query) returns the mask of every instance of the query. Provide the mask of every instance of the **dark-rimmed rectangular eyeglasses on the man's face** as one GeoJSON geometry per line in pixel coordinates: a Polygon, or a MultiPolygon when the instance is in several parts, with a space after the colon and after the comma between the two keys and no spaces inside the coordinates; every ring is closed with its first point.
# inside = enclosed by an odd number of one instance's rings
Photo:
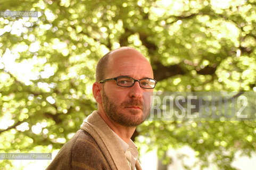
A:
{"type": "Polygon", "coordinates": [[[123,75],[116,77],[116,78],[112,78],[112,79],[101,80],[101,81],[99,81],[99,83],[104,83],[104,82],[110,81],[110,80],[115,80],[115,82],[117,82],[117,85],[121,86],[121,87],[134,86],[134,83],[137,81],[137,82],[139,82],[139,86],[141,86],[141,88],[144,88],[144,89],[153,89],[153,88],[155,88],[155,84],[157,83],[156,80],[150,79],[150,78],[135,80],[131,77],[123,76],[123,75]]]}

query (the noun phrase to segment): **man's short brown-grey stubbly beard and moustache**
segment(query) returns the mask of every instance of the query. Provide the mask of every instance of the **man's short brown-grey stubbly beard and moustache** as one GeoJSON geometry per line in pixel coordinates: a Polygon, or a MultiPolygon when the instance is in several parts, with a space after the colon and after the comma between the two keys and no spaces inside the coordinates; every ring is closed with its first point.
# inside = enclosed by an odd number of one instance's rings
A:
{"type": "MultiPolygon", "coordinates": [[[[108,96],[106,96],[104,88],[103,88],[103,94],[102,94],[102,104],[103,109],[105,113],[109,116],[109,118],[114,121],[115,123],[118,123],[120,125],[126,126],[126,127],[136,127],[144,122],[146,119],[150,109],[146,109],[146,114],[144,114],[139,118],[133,118],[132,115],[138,114],[139,111],[131,111],[130,116],[127,116],[123,113],[118,113],[118,106],[115,105],[108,96]]],[[[135,100],[131,99],[129,101],[124,101],[121,104],[121,107],[127,107],[127,106],[139,106],[143,107],[141,100],[135,100]]],[[[144,109],[143,109],[144,110],[144,109]]]]}

